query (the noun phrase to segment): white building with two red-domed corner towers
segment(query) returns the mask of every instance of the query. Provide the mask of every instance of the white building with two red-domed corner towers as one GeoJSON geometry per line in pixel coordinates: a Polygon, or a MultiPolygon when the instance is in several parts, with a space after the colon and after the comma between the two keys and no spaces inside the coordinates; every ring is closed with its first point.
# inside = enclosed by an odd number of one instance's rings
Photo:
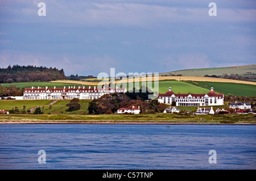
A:
{"type": "Polygon", "coordinates": [[[158,95],[158,102],[176,102],[176,106],[221,106],[224,105],[224,94],[217,94],[213,87],[207,94],[175,94],[170,87],[168,92],[158,95]]]}

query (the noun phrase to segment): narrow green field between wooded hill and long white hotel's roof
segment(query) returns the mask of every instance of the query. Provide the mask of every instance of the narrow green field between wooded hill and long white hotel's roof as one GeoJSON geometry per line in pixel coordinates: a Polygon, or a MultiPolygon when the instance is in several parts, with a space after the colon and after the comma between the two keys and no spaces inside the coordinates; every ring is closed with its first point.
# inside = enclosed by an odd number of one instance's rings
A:
{"type": "MultiPolygon", "coordinates": [[[[56,82],[15,82],[15,83],[1,83],[1,86],[10,86],[14,85],[16,87],[19,87],[20,89],[22,88],[29,88],[29,87],[46,87],[48,86],[49,88],[56,86],[57,88],[62,88],[62,87],[68,87],[68,86],[81,86],[79,84],[75,83],[56,83],[56,82]]],[[[88,87],[85,85],[85,87],[88,87]]]]}

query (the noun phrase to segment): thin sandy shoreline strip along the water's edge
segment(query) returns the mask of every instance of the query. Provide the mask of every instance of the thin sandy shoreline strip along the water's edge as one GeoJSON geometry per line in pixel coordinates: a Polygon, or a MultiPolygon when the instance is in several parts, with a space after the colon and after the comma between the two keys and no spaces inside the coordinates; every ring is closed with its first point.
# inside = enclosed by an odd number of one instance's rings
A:
{"type": "Polygon", "coordinates": [[[157,124],[157,125],[256,125],[250,123],[163,123],[163,122],[77,122],[77,121],[6,121],[1,124],[157,124]]]}

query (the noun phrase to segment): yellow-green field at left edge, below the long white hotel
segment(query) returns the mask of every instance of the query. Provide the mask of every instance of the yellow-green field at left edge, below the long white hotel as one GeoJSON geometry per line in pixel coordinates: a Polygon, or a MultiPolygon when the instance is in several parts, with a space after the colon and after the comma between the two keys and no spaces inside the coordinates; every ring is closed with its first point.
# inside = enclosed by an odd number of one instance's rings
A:
{"type": "Polygon", "coordinates": [[[18,107],[19,110],[23,110],[23,106],[26,106],[26,111],[32,107],[44,106],[53,102],[53,100],[0,100],[0,110],[11,110],[14,107],[18,107]]]}

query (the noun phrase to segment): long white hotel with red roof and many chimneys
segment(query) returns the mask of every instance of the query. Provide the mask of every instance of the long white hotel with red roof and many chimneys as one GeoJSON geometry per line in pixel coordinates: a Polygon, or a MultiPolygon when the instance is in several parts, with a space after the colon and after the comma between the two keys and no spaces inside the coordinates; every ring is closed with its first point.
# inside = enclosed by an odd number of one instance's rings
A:
{"type": "Polygon", "coordinates": [[[68,87],[63,88],[45,88],[42,87],[31,87],[24,89],[23,99],[98,99],[102,95],[110,94],[114,92],[126,92],[125,88],[105,88],[97,89],[94,87],[68,87]]]}

